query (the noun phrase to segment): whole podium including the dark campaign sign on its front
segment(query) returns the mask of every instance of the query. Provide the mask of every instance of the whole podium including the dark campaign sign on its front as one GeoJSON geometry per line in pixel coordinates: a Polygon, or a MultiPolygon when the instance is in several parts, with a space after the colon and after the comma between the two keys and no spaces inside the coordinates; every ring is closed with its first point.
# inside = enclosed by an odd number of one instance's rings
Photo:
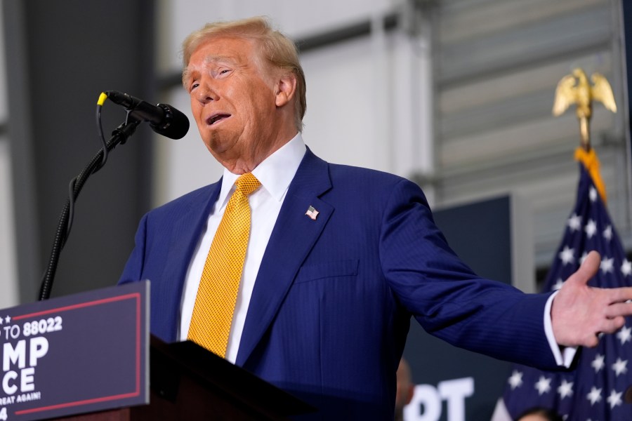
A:
{"type": "Polygon", "coordinates": [[[0,309],[0,421],[288,420],[314,408],[149,331],[149,281],[0,309]]]}

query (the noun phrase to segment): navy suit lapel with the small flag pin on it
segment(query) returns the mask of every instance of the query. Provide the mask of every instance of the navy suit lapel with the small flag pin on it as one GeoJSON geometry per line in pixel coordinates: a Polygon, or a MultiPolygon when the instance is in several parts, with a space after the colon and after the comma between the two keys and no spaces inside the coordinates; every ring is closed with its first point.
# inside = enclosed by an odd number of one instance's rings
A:
{"type": "Polygon", "coordinates": [[[308,149],[292,180],[257,274],[235,363],[244,366],[279,311],[294,277],[334,211],[319,196],[331,188],[328,166],[308,149]],[[305,212],[319,213],[312,220],[305,212]],[[282,262],[282,264],[279,264],[282,262]]]}

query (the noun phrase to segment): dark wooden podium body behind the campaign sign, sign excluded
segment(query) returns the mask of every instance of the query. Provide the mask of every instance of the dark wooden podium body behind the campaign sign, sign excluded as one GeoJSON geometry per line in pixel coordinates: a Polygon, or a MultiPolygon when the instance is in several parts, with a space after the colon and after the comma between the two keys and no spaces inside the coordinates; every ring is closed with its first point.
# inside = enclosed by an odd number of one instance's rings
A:
{"type": "Polygon", "coordinates": [[[193,342],[150,338],[150,404],[58,421],[288,420],[315,408],[193,342]]]}

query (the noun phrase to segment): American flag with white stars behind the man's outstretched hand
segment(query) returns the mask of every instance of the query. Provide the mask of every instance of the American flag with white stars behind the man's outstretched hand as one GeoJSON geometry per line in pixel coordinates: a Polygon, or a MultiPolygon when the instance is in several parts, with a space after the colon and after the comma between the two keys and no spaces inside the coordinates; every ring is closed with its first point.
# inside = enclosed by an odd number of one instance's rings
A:
{"type": "MultiPolygon", "coordinates": [[[[544,290],[557,290],[577,270],[589,251],[602,257],[598,274],[588,283],[601,288],[632,284],[632,264],[612,225],[591,175],[579,163],[577,203],[567,220],[544,290]]],[[[515,419],[527,408],[553,408],[567,421],[632,420],[632,403],[624,396],[632,386],[632,317],[617,333],[601,335],[598,347],[578,351],[569,373],[525,366],[511,370],[503,401],[515,419]]]]}

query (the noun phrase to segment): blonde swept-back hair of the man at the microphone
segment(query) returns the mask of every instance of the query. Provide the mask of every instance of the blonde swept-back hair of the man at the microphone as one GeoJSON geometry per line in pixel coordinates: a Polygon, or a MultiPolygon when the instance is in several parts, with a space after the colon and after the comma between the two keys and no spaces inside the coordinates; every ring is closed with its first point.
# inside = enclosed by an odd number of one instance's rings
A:
{"type": "MultiPolygon", "coordinates": [[[[207,23],[192,32],[182,44],[183,65],[189,65],[191,55],[208,39],[217,36],[251,39],[261,46],[263,58],[275,66],[296,76],[296,99],[294,100],[294,123],[298,131],[303,131],[303,116],[307,102],[305,100],[305,74],[298,60],[298,48],[294,41],[274,29],[268,19],[263,17],[233,20],[230,22],[207,23]]],[[[183,74],[184,76],[184,74],[183,74]]],[[[184,80],[183,80],[184,83],[184,80]]]]}

